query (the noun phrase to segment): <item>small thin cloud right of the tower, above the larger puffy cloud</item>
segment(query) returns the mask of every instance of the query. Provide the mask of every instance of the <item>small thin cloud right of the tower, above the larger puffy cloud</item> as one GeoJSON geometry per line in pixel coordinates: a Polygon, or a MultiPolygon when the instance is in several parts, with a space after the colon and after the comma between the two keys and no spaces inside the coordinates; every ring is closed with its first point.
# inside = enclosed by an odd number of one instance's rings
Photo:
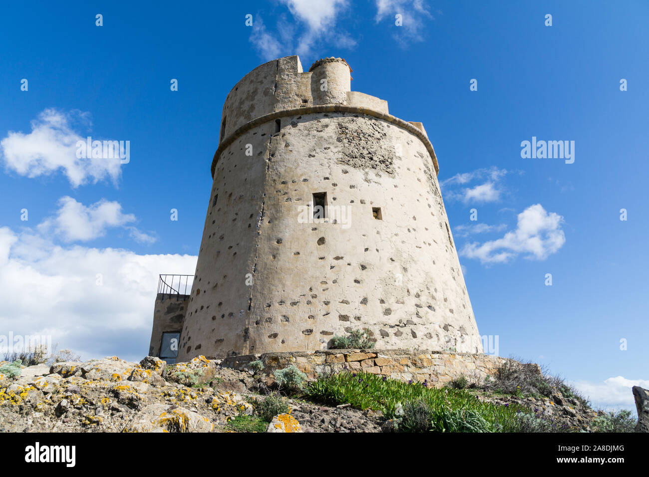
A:
{"type": "Polygon", "coordinates": [[[506,169],[489,167],[476,169],[468,173],[456,174],[440,182],[447,201],[469,203],[497,202],[500,200],[504,187],[502,179],[508,174],[506,169]],[[469,186],[471,182],[480,182],[469,186]]]}

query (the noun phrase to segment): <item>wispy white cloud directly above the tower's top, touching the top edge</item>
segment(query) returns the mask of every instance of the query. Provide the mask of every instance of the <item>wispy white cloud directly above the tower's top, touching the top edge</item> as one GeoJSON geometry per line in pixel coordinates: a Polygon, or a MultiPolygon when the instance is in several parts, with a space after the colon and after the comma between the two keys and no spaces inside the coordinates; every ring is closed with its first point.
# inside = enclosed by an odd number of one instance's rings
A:
{"type": "Polygon", "coordinates": [[[276,31],[269,33],[262,18],[256,16],[252,23],[250,41],[265,60],[273,60],[282,55],[308,56],[324,41],[336,47],[351,49],[356,40],[336,26],[339,16],[349,5],[348,0],[280,0],[288,8],[292,20],[280,15],[276,31]],[[277,40],[277,37],[282,42],[277,40]]]}

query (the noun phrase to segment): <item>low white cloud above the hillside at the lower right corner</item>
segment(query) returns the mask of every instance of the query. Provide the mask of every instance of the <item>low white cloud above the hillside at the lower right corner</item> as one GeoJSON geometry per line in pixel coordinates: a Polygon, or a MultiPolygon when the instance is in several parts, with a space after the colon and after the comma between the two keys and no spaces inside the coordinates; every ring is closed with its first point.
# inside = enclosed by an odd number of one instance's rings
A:
{"type": "Polygon", "coordinates": [[[632,410],[635,414],[635,400],[631,387],[641,386],[649,389],[649,380],[636,379],[631,380],[622,376],[608,378],[604,382],[594,383],[589,381],[576,381],[570,383],[574,385],[583,395],[588,398],[593,408],[603,410],[632,410]]]}

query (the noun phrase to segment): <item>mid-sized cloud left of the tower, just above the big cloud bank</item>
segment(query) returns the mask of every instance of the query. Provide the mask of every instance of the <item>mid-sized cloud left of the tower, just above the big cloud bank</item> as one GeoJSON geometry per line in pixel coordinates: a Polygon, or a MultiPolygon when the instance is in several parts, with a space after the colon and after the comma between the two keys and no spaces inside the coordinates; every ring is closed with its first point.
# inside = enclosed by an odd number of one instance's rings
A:
{"type": "Polygon", "coordinates": [[[53,234],[66,242],[89,241],[106,235],[108,228],[125,227],[131,238],[140,243],[156,241],[153,236],[129,225],[136,221],[136,217],[133,214],[124,214],[119,202],[101,199],[90,206],[84,206],[66,196],[59,199],[58,205],[56,215],[38,225],[42,234],[53,234]]]}

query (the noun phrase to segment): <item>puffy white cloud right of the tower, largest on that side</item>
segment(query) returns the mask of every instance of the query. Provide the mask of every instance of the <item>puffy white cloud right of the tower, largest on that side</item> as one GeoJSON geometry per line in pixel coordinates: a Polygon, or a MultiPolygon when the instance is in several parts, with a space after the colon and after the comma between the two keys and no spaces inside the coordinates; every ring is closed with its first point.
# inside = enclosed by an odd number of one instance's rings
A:
{"type": "Polygon", "coordinates": [[[518,215],[516,230],[497,240],[468,243],[460,254],[478,258],[482,263],[508,262],[519,254],[524,254],[525,258],[545,260],[565,243],[561,223],[561,215],[548,213],[541,204],[534,204],[518,215]]]}

